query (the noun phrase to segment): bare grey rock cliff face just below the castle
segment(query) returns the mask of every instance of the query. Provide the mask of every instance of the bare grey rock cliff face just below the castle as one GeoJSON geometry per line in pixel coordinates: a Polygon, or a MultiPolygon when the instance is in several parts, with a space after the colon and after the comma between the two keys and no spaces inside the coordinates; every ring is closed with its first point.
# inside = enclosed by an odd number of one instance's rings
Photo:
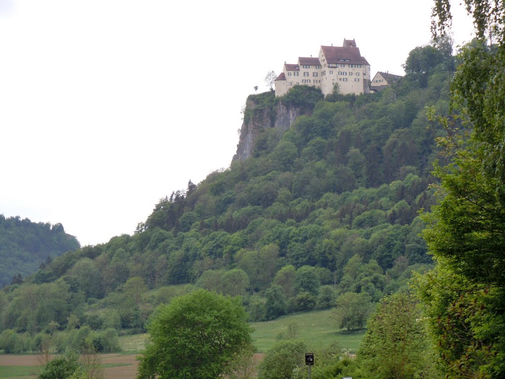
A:
{"type": "Polygon", "coordinates": [[[291,127],[296,117],[301,112],[298,108],[287,107],[282,102],[278,102],[273,110],[257,109],[254,101],[247,100],[246,111],[249,110],[250,117],[240,128],[240,138],[238,140],[237,152],[233,156],[233,161],[243,161],[250,156],[255,149],[255,143],[258,135],[267,128],[277,128],[285,131],[291,127]]]}

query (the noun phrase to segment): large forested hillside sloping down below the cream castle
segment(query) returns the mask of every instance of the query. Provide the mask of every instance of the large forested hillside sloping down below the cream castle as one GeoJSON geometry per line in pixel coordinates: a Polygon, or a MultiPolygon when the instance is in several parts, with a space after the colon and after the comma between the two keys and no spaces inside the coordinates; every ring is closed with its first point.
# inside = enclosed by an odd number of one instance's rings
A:
{"type": "Polygon", "coordinates": [[[64,349],[93,329],[140,331],[174,284],[239,295],[252,320],[340,304],[360,311],[339,326],[363,328],[374,303],[431,267],[418,215],[434,204],[444,131],[427,113],[448,110],[453,60],[444,41],[414,49],[407,76],[381,93],[251,95],[258,107],[245,117],[278,101],[303,115],[285,132],[266,128],[251,158],[161,199],[134,235],[64,254],[0,291],[3,335],[18,333],[28,350],[38,333],[66,329],[64,349]]]}

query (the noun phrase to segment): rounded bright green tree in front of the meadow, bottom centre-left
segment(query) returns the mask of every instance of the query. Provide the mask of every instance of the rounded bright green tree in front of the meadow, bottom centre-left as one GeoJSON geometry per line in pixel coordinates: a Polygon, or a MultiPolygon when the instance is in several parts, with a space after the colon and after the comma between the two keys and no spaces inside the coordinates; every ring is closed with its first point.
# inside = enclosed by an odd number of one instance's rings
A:
{"type": "Polygon", "coordinates": [[[139,379],[215,379],[251,344],[239,299],[205,290],[161,306],[147,328],[151,345],[140,358],[139,379]]]}

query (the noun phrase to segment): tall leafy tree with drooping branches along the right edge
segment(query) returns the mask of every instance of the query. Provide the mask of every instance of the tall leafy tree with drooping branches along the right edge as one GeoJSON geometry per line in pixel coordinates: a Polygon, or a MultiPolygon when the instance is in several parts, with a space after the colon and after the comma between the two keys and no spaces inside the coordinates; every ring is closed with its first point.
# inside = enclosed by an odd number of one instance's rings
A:
{"type": "MultiPolygon", "coordinates": [[[[439,142],[439,205],[425,233],[437,268],[418,280],[449,378],[505,377],[505,3],[465,0],[478,42],[463,49],[450,120],[439,142]]],[[[449,0],[435,1],[433,31],[450,26],[449,0]]]]}

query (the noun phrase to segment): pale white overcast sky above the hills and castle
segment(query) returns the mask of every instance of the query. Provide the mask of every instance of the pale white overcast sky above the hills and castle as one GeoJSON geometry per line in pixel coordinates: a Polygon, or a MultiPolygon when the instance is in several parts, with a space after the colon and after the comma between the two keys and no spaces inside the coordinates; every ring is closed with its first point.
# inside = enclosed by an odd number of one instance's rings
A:
{"type": "Polygon", "coordinates": [[[0,213],[61,222],[81,245],[131,234],[160,198],[229,166],[240,108],[269,70],[356,38],[372,75],[403,74],[431,7],[0,0],[0,213]]]}

